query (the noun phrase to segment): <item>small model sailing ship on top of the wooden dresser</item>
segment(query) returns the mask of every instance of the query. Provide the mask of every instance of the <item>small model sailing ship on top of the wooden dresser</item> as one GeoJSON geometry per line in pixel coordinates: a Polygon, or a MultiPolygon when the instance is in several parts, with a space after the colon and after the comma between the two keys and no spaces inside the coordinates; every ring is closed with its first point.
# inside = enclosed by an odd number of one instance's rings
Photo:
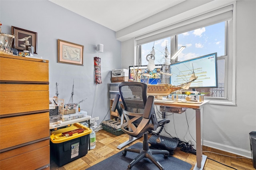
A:
{"type": "Polygon", "coordinates": [[[14,36],[2,33],[1,26],[2,24],[0,22],[0,54],[13,55],[12,41],[14,40],[14,36]],[[10,40],[10,42],[8,40],[10,40]]]}

